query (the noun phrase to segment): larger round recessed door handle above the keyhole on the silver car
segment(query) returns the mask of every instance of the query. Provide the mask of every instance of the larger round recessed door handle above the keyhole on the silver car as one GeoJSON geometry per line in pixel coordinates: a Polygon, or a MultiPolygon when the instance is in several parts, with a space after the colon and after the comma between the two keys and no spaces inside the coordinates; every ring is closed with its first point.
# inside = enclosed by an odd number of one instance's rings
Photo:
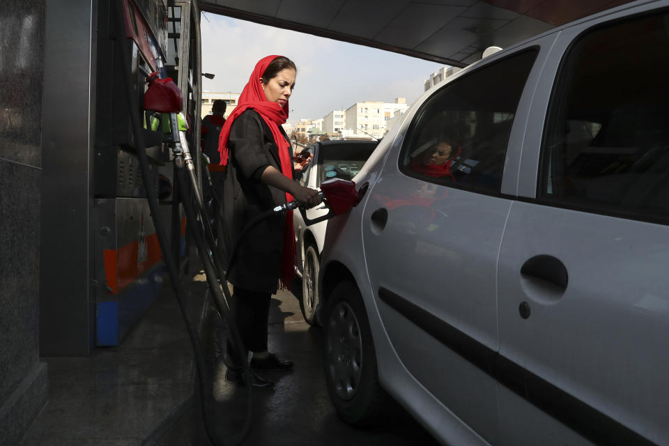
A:
{"type": "Polygon", "coordinates": [[[564,295],[569,274],[564,263],[553,256],[541,254],[523,263],[521,286],[525,294],[540,303],[551,304],[564,295]]]}

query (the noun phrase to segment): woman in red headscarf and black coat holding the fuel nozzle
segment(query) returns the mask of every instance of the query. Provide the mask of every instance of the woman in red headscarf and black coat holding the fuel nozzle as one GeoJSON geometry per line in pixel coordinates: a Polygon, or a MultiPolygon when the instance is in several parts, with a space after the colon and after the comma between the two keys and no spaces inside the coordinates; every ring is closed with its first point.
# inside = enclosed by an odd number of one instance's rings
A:
{"type": "MultiPolygon", "coordinates": [[[[293,166],[291,144],[281,127],[288,118],[296,74],[295,63],[286,57],[261,59],[221,130],[218,150],[221,164],[226,165],[222,199],[224,258],[256,215],[293,199],[307,207],[321,202],[318,191],[293,180],[295,171],[302,167],[293,166]]],[[[267,325],[270,296],[276,293],[279,279],[286,289],[293,280],[292,212],[262,220],[239,243],[227,279],[234,286],[233,312],[244,347],[253,352],[250,365],[256,370],[290,369],[293,362],[268,352],[267,325]]],[[[226,380],[243,385],[241,361],[246,360],[247,351],[236,354],[231,342],[227,345],[226,380]]],[[[256,374],[252,378],[255,387],[273,385],[256,374]]]]}

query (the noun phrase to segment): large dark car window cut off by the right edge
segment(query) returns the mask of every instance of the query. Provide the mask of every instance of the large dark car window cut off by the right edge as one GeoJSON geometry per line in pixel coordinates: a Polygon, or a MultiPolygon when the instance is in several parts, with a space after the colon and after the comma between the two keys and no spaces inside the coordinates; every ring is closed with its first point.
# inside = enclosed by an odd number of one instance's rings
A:
{"type": "Polygon", "coordinates": [[[541,148],[543,201],[669,217],[669,15],[595,29],[558,72],[541,148]]]}

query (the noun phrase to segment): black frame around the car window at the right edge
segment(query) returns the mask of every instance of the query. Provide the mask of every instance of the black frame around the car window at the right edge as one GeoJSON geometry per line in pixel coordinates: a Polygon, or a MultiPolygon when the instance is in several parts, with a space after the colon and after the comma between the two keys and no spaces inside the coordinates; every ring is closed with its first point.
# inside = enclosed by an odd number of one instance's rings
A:
{"type": "Polygon", "coordinates": [[[570,201],[569,198],[551,198],[546,197],[546,194],[542,192],[542,186],[544,185],[544,179],[547,180],[547,176],[550,175],[549,169],[549,159],[550,155],[548,150],[546,150],[548,144],[548,130],[551,128],[551,120],[555,119],[556,116],[560,116],[560,109],[564,107],[564,102],[561,102],[561,98],[569,91],[569,86],[571,86],[571,81],[574,79],[574,63],[576,63],[578,56],[578,48],[580,43],[583,42],[585,38],[590,36],[592,33],[600,31],[602,29],[607,29],[617,24],[625,22],[633,22],[634,20],[643,20],[644,17],[656,16],[656,15],[669,15],[669,7],[662,8],[653,8],[649,10],[643,10],[638,13],[624,15],[622,17],[616,17],[611,20],[605,20],[603,22],[594,24],[592,26],[586,26],[582,31],[580,31],[574,38],[571,39],[567,47],[565,47],[562,54],[560,54],[560,63],[555,70],[555,77],[553,78],[553,86],[551,89],[551,94],[549,95],[548,104],[546,105],[546,115],[544,118],[543,128],[541,130],[541,143],[539,144],[539,164],[537,165],[537,180],[535,183],[535,197],[526,198],[526,197],[517,197],[519,201],[525,201],[528,203],[536,203],[541,206],[551,206],[553,208],[562,208],[567,210],[575,210],[578,212],[589,213],[593,215],[604,215],[608,217],[617,217],[624,220],[633,220],[638,222],[647,222],[653,224],[663,224],[669,225],[669,215],[666,217],[661,217],[658,215],[641,215],[635,211],[626,211],[626,210],[614,210],[611,208],[606,208],[604,206],[597,206],[596,202],[592,203],[574,203],[570,201]]]}

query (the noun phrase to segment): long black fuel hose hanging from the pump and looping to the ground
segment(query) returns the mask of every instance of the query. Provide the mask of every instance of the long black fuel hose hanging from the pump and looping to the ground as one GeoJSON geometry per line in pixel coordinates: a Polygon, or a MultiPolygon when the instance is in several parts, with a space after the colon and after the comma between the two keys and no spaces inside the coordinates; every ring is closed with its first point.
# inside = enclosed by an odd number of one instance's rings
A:
{"type": "MultiPolygon", "coordinates": [[[[130,48],[128,47],[128,39],[125,38],[125,20],[123,17],[123,9],[121,1],[114,1],[114,16],[116,22],[116,38],[121,46],[121,65],[123,68],[124,80],[125,80],[125,97],[128,101],[128,109],[130,110],[130,123],[132,125],[132,132],[134,135],[134,145],[137,150],[137,158],[139,160],[139,166],[141,170],[141,178],[144,182],[144,189],[146,191],[146,196],[148,200],[148,206],[151,210],[151,217],[153,218],[153,223],[155,225],[155,231],[157,234],[158,241],[160,243],[160,249],[162,250],[162,256],[167,268],[167,272],[171,279],[172,286],[174,287],[174,292],[176,295],[176,300],[181,312],[181,316],[186,326],[188,336],[193,348],[193,353],[195,357],[195,363],[197,365],[197,375],[198,382],[200,385],[200,401],[202,408],[203,421],[205,424],[206,432],[209,440],[213,445],[217,446],[227,446],[227,445],[238,445],[240,444],[248,435],[251,427],[252,420],[252,386],[250,385],[250,371],[248,369],[247,361],[242,361],[245,365],[244,375],[246,380],[246,390],[247,390],[247,410],[244,422],[239,427],[238,431],[233,433],[222,433],[217,431],[218,424],[214,419],[216,413],[216,401],[213,398],[213,378],[210,374],[210,371],[207,367],[205,360],[204,348],[202,346],[201,340],[197,334],[197,330],[194,328],[190,317],[188,316],[187,309],[185,306],[185,290],[183,289],[183,284],[180,282],[178,268],[176,266],[175,259],[171,256],[171,251],[169,249],[169,238],[167,236],[167,231],[164,229],[162,221],[160,220],[160,208],[157,201],[157,194],[152,187],[153,184],[151,174],[149,171],[148,165],[148,156],[146,155],[146,146],[144,144],[144,134],[142,132],[142,125],[139,118],[139,104],[137,103],[137,95],[134,91],[134,84],[132,82],[132,76],[130,71],[130,48]]],[[[177,169],[177,176],[183,176],[183,166],[177,169]],[[179,174],[178,172],[181,172],[179,174]]],[[[179,178],[177,178],[179,180],[179,178]]],[[[229,314],[229,305],[227,302],[230,299],[229,291],[227,289],[227,282],[222,271],[220,271],[221,277],[220,281],[217,279],[218,275],[213,266],[213,261],[210,259],[210,252],[213,252],[214,249],[206,249],[203,243],[203,238],[199,231],[196,228],[201,226],[197,224],[197,218],[194,215],[194,209],[192,207],[192,202],[190,201],[190,195],[188,194],[189,188],[187,187],[187,181],[184,178],[180,180],[180,186],[178,187],[181,192],[184,210],[186,217],[190,220],[190,227],[193,229],[192,234],[194,236],[195,242],[198,247],[199,254],[202,258],[202,263],[205,268],[207,282],[209,286],[209,291],[213,297],[213,300],[217,306],[219,314],[226,325],[228,326],[229,332],[233,338],[234,343],[237,346],[240,346],[240,337],[238,331],[236,330],[236,325],[233,318],[229,314]]],[[[238,348],[238,351],[244,351],[243,348],[238,348]]]]}

